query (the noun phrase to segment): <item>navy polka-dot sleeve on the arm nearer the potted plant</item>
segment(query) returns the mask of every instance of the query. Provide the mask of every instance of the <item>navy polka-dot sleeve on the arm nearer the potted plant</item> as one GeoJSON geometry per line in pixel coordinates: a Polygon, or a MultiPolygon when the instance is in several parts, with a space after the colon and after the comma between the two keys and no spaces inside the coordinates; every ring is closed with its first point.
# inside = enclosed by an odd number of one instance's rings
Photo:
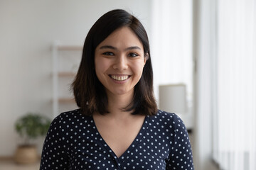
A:
{"type": "Polygon", "coordinates": [[[40,170],[68,169],[68,149],[65,146],[61,115],[50,124],[43,143],[40,170]]]}

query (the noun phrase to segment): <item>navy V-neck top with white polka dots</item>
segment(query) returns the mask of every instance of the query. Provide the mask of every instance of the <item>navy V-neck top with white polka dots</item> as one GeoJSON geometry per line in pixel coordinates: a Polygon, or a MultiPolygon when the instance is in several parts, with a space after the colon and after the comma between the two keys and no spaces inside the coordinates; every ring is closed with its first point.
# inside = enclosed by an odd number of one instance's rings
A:
{"type": "Polygon", "coordinates": [[[58,115],[43,145],[40,169],[193,169],[183,121],[174,113],[146,116],[128,149],[117,157],[80,109],[58,115]]]}

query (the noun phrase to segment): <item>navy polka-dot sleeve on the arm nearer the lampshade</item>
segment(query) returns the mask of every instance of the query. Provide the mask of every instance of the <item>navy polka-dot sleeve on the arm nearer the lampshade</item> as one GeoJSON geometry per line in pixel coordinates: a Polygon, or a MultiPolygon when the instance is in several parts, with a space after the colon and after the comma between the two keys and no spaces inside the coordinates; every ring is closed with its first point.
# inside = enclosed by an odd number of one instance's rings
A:
{"type": "Polygon", "coordinates": [[[166,162],[166,169],[187,169],[193,170],[193,156],[191,143],[186,127],[177,115],[174,115],[174,141],[169,159],[166,162]]]}

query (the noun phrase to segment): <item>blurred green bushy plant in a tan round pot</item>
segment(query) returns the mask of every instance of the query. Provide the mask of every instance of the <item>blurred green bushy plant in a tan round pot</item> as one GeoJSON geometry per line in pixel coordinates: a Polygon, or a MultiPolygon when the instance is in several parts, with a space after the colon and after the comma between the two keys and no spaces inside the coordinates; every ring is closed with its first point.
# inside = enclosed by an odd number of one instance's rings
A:
{"type": "Polygon", "coordinates": [[[18,145],[14,160],[19,164],[31,164],[38,161],[38,153],[33,140],[46,135],[50,127],[50,119],[36,113],[27,113],[15,123],[15,130],[23,143],[18,145]]]}

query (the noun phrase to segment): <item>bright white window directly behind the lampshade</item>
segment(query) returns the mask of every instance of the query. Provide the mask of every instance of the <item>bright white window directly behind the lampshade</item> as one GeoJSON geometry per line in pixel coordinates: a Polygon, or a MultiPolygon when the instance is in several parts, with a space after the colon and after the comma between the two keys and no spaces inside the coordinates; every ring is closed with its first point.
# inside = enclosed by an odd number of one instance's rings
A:
{"type": "Polygon", "coordinates": [[[186,128],[193,128],[192,1],[152,1],[151,60],[154,92],[159,85],[185,84],[188,114],[178,114],[186,128]]]}

